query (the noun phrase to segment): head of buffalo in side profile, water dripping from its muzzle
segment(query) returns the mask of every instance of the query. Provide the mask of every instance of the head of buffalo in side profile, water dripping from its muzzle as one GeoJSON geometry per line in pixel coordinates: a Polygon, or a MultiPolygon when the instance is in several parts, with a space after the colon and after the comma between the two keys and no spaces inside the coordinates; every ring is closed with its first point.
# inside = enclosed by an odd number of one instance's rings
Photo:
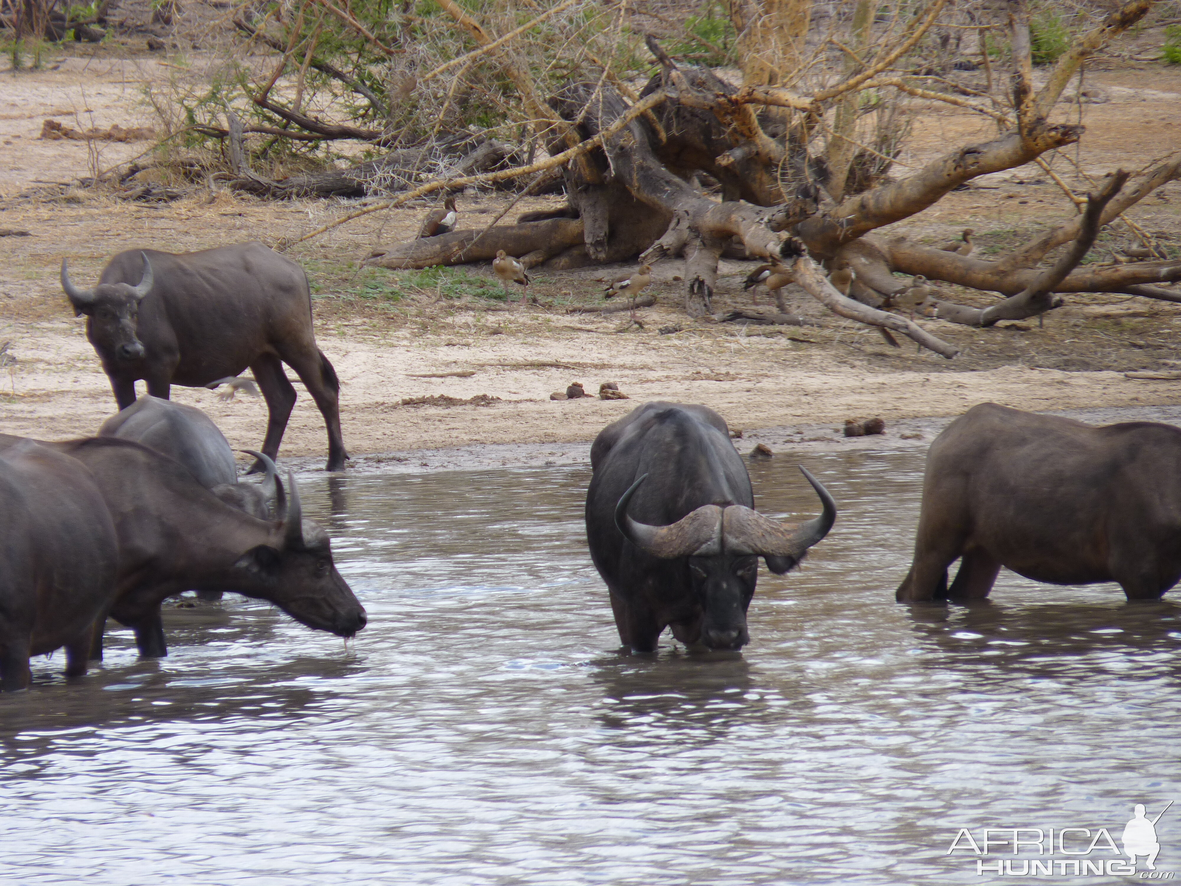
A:
{"type": "MultiPolygon", "coordinates": [[[[261,452],[250,452],[267,467],[275,481],[276,538],[270,543],[247,551],[234,565],[250,595],[270,600],[302,625],[352,637],[367,621],[365,608],[332,561],[328,534],[311,520],[304,520],[299,487],[287,473],[291,497],[275,471],[275,464],[261,452]]],[[[244,592],[243,587],[243,592],[244,592]]]]}

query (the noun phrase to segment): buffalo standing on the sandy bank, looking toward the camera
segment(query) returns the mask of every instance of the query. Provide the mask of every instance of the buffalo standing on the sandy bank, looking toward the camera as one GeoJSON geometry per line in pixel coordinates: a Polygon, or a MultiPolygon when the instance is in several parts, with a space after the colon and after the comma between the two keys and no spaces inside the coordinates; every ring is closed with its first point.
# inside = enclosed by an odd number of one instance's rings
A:
{"type": "Polygon", "coordinates": [[[249,366],[269,412],[262,451],[275,458],[295,405],[286,363],[324,415],[327,469],[344,470],[340,383],[315,346],[307,276],[291,259],[262,243],[180,255],[135,249],[111,259],[93,289],[74,286],[63,259],[61,288],[76,315],[86,314],[86,338],[119,409],[135,402],[138,379],[168,399],[174,384],[198,387],[249,366]]]}

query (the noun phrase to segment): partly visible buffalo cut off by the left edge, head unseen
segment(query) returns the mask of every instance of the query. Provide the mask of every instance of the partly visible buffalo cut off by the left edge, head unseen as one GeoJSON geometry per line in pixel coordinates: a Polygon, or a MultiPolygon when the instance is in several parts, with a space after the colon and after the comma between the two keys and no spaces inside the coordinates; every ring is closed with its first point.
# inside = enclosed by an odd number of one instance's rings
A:
{"type": "MultiPolygon", "coordinates": [[[[91,636],[115,595],[118,542],[85,467],[27,439],[0,451],[0,689],[28,686],[28,657],[66,647],[86,672],[91,636]]],[[[0,443],[4,445],[4,443],[0,443]]]]}

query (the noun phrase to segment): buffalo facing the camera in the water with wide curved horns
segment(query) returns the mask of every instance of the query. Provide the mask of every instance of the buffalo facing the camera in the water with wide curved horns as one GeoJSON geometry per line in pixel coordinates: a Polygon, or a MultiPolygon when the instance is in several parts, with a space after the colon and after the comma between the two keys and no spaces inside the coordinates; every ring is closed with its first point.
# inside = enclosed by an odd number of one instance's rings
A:
{"type": "MultiPolygon", "coordinates": [[[[762,516],[726,423],[705,406],[647,403],[607,425],[590,448],[587,540],[607,582],[620,640],[651,652],[666,626],[687,645],[740,649],[758,558],[783,574],[836,520],[794,527],[762,516]]],[[[803,469],[801,469],[803,470],[803,469]]]]}

